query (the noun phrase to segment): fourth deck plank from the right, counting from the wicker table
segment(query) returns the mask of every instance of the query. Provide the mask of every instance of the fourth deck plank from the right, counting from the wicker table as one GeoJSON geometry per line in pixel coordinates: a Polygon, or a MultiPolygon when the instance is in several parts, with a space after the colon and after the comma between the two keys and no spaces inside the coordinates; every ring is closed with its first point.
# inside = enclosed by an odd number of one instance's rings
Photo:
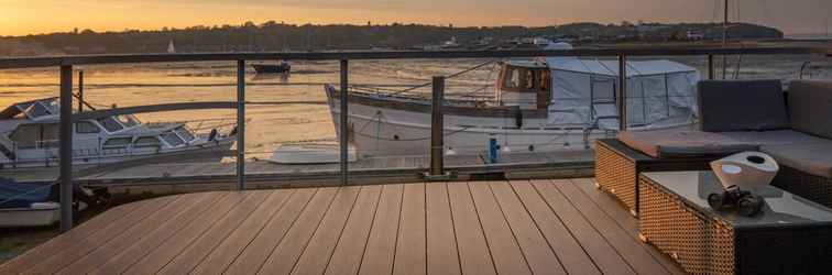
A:
{"type": "Polygon", "coordinates": [[[581,244],[529,182],[512,180],[511,186],[569,274],[601,274],[581,244]]]}

